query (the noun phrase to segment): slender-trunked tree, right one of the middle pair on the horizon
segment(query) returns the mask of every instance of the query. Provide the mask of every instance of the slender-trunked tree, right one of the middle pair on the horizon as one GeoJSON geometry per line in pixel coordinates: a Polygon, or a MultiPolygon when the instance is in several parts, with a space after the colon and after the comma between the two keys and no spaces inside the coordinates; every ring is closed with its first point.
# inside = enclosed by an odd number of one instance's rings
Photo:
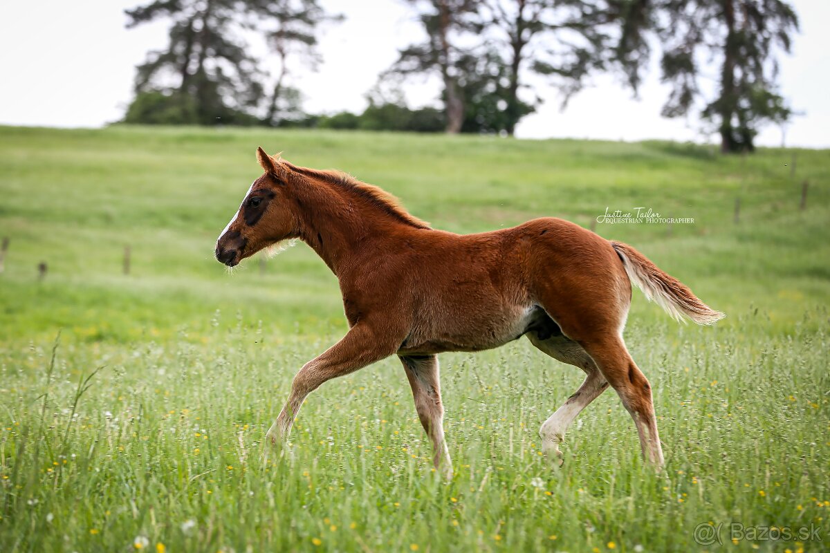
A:
{"type": "Polygon", "coordinates": [[[519,99],[525,71],[553,77],[564,92],[564,104],[610,59],[608,31],[614,14],[604,0],[486,0],[482,6],[486,26],[505,45],[505,129],[511,135],[532,111],[532,104],[519,99]]]}

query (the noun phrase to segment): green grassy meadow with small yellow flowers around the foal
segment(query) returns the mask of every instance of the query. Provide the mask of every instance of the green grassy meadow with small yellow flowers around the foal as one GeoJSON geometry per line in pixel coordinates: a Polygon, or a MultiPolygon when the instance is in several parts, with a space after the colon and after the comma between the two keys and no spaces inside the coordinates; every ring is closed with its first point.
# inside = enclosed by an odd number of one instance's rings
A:
{"type": "Polygon", "coordinates": [[[794,177],[792,155],[0,128],[0,551],[826,551],[830,152],[799,150],[794,177]],[[336,279],[305,245],[232,274],[213,259],[261,172],[257,145],[350,172],[457,232],[535,216],[591,226],[637,206],[694,218],[596,225],[728,315],[681,326],[634,294],[627,345],[652,381],[666,470],[643,465],[611,392],[570,429],[564,467],[548,468],[537,431],[581,373],[525,340],[442,355],[451,483],[432,472],[395,359],[311,395],[291,455],[262,463],[295,371],[346,323],[336,279]],[[733,542],[733,523],[818,536],[733,542]],[[720,541],[699,543],[701,524],[723,525],[720,541]]]}

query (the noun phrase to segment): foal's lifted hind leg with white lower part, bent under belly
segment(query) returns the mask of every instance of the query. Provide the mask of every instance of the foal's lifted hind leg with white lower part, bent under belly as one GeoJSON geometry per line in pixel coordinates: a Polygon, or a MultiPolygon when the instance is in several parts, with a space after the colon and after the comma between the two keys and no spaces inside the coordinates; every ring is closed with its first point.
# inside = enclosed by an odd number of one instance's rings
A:
{"type": "Polygon", "coordinates": [[[578,366],[587,375],[579,390],[574,392],[564,404],[559,407],[548,420],[545,420],[539,430],[542,439],[542,453],[550,461],[559,464],[564,463],[564,456],[559,450],[559,444],[564,440],[565,430],[574,422],[577,415],[608,387],[608,381],[598,370],[593,359],[578,343],[562,336],[561,333],[555,336],[545,336],[545,333],[529,332],[527,335],[530,342],[542,352],[547,353],[557,361],[578,366]]]}

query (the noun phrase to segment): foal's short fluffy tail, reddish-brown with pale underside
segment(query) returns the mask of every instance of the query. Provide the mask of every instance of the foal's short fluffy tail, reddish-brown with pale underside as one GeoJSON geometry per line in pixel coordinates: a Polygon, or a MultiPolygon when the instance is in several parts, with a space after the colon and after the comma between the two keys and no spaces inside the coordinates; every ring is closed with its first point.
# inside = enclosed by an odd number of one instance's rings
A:
{"type": "Polygon", "coordinates": [[[646,294],[646,298],[666,310],[677,321],[683,315],[698,324],[712,324],[726,315],[710,308],[691,292],[686,284],[660,270],[645,255],[623,242],[611,242],[628,278],[646,294]]]}

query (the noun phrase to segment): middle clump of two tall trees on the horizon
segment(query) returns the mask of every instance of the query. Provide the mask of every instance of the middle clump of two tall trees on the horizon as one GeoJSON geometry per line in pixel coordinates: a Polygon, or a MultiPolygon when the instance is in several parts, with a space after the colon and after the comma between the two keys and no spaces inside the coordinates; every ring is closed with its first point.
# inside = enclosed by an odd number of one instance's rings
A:
{"type": "Polygon", "coordinates": [[[520,98],[530,88],[528,72],[556,85],[564,105],[588,75],[611,67],[614,25],[621,4],[630,0],[408,1],[419,10],[427,41],[400,51],[393,72],[442,76],[447,132],[498,129],[512,135],[540,102],[538,96],[520,98]],[[471,106],[490,111],[471,114],[471,106]]]}

